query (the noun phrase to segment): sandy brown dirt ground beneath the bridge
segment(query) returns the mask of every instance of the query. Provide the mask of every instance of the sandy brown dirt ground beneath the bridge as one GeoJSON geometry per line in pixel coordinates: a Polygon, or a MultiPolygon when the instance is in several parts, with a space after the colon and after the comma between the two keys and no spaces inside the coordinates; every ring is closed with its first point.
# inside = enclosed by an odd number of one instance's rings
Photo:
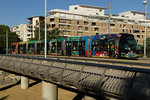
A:
{"type": "MultiPolygon", "coordinates": [[[[29,89],[21,89],[20,84],[0,86],[0,100],[41,100],[42,84],[30,80],[29,89]]],[[[58,89],[58,100],[72,100],[76,93],[58,89]]]]}

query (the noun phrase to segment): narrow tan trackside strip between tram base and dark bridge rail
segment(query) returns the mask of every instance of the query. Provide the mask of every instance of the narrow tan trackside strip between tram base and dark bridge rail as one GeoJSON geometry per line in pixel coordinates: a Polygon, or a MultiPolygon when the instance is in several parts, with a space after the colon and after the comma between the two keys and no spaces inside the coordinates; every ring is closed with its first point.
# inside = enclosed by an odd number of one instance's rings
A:
{"type": "MultiPolygon", "coordinates": [[[[18,56],[18,55],[16,55],[18,56]]],[[[28,57],[37,57],[37,58],[43,58],[42,55],[28,55],[28,57]]],[[[102,63],[102,64],[111,64],[111,65],[123,65],[128,67],[134,67],[134,66],[142,66],[142,67],[149,67],[150,63],[145,61],[139,61],[139,60],[123,60],[123,59],[94,59],[89,57],[71,57],[71,56],[47,56],[47,58],[50,59],[57,59],[57,60],[66,60],[66,61],[78,61],[78,62],[95,62],[95,63],[102,63]]]]}

